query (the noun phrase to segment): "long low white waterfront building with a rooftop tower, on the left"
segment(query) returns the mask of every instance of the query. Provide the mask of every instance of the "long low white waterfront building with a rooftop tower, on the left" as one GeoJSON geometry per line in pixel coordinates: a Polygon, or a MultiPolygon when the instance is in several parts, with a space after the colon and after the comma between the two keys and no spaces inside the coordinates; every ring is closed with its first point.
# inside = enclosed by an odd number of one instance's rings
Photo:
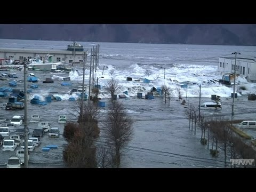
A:
{"type": "MultiPolygon", "coordinates": [[[[87,54],[87,51],[86,51],[87,54]]],[[[84,49],[83,46],[74,42],[68,45],[67,50],[53,50],[53,49],[21,49],[17,48],[0,48],[0,65],[10,64],[12,60],[15,64],[23,64],[28,62],[29,59],[39,57],[42,61],[46,60],[47,55],[51,55],[50,62],[65,61],[66,63],[83,63],[84,62],[84,49]]]]}

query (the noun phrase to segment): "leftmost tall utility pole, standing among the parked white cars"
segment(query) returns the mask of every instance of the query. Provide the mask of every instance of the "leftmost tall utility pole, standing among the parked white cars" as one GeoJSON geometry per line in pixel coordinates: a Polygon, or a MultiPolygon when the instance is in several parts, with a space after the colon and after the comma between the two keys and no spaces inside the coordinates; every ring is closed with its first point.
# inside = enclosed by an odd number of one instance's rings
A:
{"type": "Polygon", "coordinates": [[[25,148],[24,148],[24,165],[28,168],[28,107],[27,107],[27,79],[26,79],[26,63],[24,63],[24,131],[25,131],[25,148]]]}

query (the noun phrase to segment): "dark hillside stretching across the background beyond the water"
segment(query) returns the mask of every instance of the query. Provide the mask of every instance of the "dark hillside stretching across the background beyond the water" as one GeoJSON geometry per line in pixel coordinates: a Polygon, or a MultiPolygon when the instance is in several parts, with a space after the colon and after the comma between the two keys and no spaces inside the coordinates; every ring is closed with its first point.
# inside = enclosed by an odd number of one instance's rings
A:
{"type": "Polygon", "coordinates": [[[0,24],[0,38],[256,45],[255,24],[0,24]]]}

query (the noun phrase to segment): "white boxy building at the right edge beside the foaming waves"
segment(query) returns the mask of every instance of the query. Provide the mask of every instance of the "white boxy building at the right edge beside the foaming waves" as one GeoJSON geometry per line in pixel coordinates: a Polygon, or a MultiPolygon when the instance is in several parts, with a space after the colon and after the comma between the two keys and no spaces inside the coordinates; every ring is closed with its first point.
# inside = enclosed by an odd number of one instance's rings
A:
{"type": "Polygon", "coordinates": [[[254,82],[256,81],[256,58],[237,54],[235,63],[235,55],[220,57],[218,71],[222,74],[236,73],[245,77],[247,81],[254,82]]]}

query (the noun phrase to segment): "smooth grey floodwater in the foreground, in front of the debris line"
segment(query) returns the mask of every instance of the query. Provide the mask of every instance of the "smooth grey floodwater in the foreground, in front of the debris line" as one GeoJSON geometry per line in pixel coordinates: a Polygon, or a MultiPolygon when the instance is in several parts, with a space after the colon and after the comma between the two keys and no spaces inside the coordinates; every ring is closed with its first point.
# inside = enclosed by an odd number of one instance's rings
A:
{"type": "MultiPolygon", "coordinates": [[[[39,79],[49,75],[47,72],[33,71],[39,79]]],[[[17,76],[23,75],[23,71],[17,71],[17,76]]],[[[65,74],[60,74],[65,76],[65,74]]],[[[61,86],[62,81],[55,80],[53,84],[43,84],[38,82],[38,89],[33,90],[33,94],[49,92],[68,93],[71,86],[61,86]],[[47,90],[47,91],[46,91],[47,90]]],[[[8,82],[1,82],[1,86],[7,86],[8,82]]],[[[74,87],[78,83],[72,82],[74,87]]],[[[29,87],[30,84],[27,83],[29,87]]],[[[20,89],[23,89],[23,82],[18,82],[20,89]]],[[[28,94],[28,98],[31,97],[28,94]]],[[[186,99],[186,98],[183,98],[186,99]]],[[[118,99],[121,101],[127,113],[134,120],[134,135],[132,141],[124,150],[121,167],[223,167],[223,154],[219,157],[211,157],[206,146],[200,144],[201,131],[196,130],[196,135],[188,129],[189,121],[185,116],[186,106],[181,105],[181,100],[172,98],[170,107],[164,103],[161,97],[152,100],[126,98],[118,99]]],[[[210,98],[201,98],[201,103],[210,101],[210,98]]],[[[1,104],[7,99],[1,99],[1,104]]],[[[99,118],[103,119],[108,109],[109,99],[103,98],[106,107],[101,109],[99,118]]],[[[253,119],[255,101],[247,101],[247,97],[235,99],[235,119],[253,119]]],[[[187,98],[187,103],[198,105],[199,98],[187,98]]],[[[205,115],[223,115],[231,118],[232,99],[221,98],[221,110],[201,110],[205,115]]],[[[59,138],[49,138],[44,135],[41,146],[30,153],[29,167],[65,167],[62,160],[62,150],[67,142],[62,137],[64,124],[58,123],[58,115],[67,115],[67,121],[76,121],[76,102],[75,101],[55,101],[52,100],[46,106],[35,106],[28,102],[28,119],[31,115],[40,115],[41,122],[47,121],[51,126],[60,128],[59,138]],[[58,149],[51,149],[49,152],[42,151],[42,147],[47,145],[57,145],[58,149]]],[[[13,115],[23,115],[23,110],[7,111],[0,109],[1,118],[10,119],[13,115]]],[[[99,124],[101,127],[101,124],[99,124]]],[[[23,128],[23,125],[20,127],[23,128]]],[[[37,123],[28,122],[30,133],[37,127],[37,123]]],[[[104,139],[100,139],[104,140],[104,139]]],[[[98,142],[97,145],[101,145],[98,142]]],[[[9,155],[15,151],[2,151],[0,147],[0,165],[5,166],[9,155]]]]}

